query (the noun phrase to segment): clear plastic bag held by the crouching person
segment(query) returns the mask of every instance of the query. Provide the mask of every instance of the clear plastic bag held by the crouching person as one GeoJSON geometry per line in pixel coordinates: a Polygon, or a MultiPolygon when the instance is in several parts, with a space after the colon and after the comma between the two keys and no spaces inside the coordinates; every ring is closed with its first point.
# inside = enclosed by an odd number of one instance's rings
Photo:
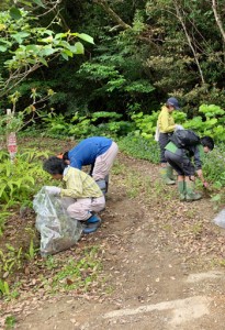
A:
{"type": "Polygon", "coordinates": [[[33,200],[35,227],[41,233],[41,255],[47,256],[69,249],[80,239],[82,224],[71,219],[60,197],[50,196],[43,187],[33,200]]]}

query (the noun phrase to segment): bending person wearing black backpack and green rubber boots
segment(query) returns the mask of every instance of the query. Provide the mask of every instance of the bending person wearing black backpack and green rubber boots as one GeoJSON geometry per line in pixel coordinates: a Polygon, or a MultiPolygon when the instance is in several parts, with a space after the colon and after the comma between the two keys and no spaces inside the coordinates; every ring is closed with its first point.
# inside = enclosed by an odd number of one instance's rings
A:
{"type": "Polygon", "coordinates": [[[184,130],[181,133],[175,132],[170,142],[166,145],[165,158],[178,173],[178,191],[181,201],[193,201],[202,198],[202,195],[194,191],[194,175],[199,176],[203,186],[207,183],[202,173],[202,156],[214,148],[214,141],[211,136],[198,138],[193,131],[184,130]],[[180,136],[179,136],[180,135],[180,136]],[[180,144],[182,135],[188,145],[180,144]],[[193,158],[193,163],[192,163],[193,158]]]}

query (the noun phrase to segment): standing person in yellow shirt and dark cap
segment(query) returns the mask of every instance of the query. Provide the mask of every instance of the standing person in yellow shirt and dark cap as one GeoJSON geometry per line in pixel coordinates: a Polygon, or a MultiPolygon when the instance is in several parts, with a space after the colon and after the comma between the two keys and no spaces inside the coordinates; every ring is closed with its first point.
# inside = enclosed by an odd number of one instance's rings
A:
{"type": "Polygon", "coordinates": [[[160,176],[166,185],[175,185],[176,179],[172,174],[172,167],[165,158],[165,146],[169,142],[169,136],[175,130],[182,129],[181,125],[175,123],[172,112],[180,109],[179,102],[176,98],[171,97],[167,100],[166,105],[161,108],[158,117],[157,128],[159,131],[158,143],[160,147],[160,176]]]}

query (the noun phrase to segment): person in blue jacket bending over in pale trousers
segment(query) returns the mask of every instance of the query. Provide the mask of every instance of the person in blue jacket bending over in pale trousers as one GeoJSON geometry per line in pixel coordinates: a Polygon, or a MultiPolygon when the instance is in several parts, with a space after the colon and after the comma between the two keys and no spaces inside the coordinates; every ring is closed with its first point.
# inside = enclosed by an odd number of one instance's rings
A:
{"type": "Polygon", "coordinates": [[[65,164],[81,169],[90,165],[90,175],[105,194],[109,185],[109,173],[117,155],[117,144],[108,138],[92,136],[82,140],[74,148],[63,154],[65,164]]]}

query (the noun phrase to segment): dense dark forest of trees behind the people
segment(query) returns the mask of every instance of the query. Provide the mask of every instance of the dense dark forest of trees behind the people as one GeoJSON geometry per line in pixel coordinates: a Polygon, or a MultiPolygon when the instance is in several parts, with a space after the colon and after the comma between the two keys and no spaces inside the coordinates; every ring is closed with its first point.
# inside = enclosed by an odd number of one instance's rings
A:
{"type": "MultiPolygon", "coordinates": [[[[179,99],[188,119],[198,114],[201,103],[225,106],[224,0],[2,0],[0,10],[2,113],[15,91],[18,109],[26,108],[32,88],[38,94],[53,89],[45,109],[54,109],[64,120],[95,111],[117,112],[130,120],[134,112],[157,111],[169,96],[179,99]],[[86,33],[94,44],[83,41],[85,53],[72,57],[47,57],[47,65],[43,62],[15,87],[15,80],[5,85],[12,72],[5,62],[20,42],[16,38],[11,51],[1,45],[9,41],[12,21],[20,25],[23,19],[16,10],[30,14],[22,32],[38,26],[86,33]]],[[[31,35],[22,41],[26,46],[31,35]]]]}

